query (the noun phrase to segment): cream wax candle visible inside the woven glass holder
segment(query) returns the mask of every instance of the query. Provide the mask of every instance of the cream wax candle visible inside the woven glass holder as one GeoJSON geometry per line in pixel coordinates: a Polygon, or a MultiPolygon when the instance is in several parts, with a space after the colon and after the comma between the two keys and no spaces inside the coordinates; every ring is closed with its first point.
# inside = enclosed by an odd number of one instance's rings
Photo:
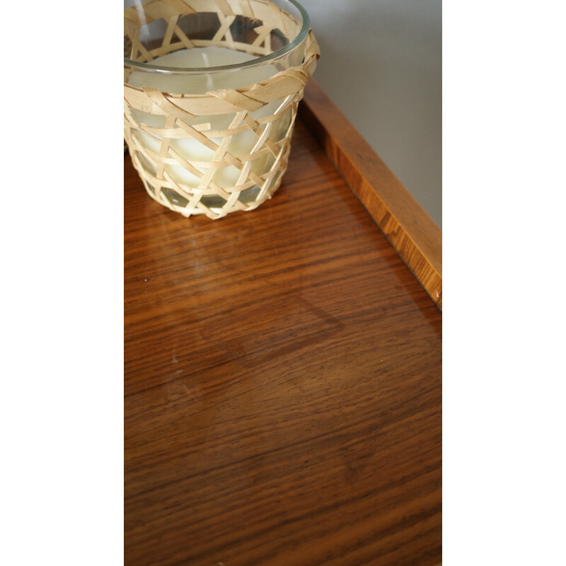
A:
{"type": "MultiPolygon", "coordinates": [[[[209,67],[222,67],[225,65],[240,64],[252,61],[256,57],[243,52],[226,49],[224,47],[195,47],[193,49],[178,50],[168,53],[151,61],[151,64],[159,67],[175,68],[175,69],[207,69],[209,67]]],[[[202,94],[207,91],[216,91],[222,88],[240,88],[250,84],[266,81],[277,73],[274,65],[260,65],[258,67],[243,67],[237,71],[237,82],[235,83],[234,73],[223,73],[222,71],[211,71],[204,74],[163,74],[163,73],[146,73],[134,71],[128,79],[128,83],[138,87],[154,87],[166,93],[183,93],[183,94],[202,94]]],[[[262,117],[273,115],[281,101],[265,105],[256,112],[250,112],[254,120],[262,117]]],[[[147,112],[136,112],[136,119],[140,123],[151,128],[165,127],[165,118],[159,115],[151,115],[147,112]]],[[[221,132],[230,127],[233,120],[232,116],[216,115],[204,116],[195,120],[185,120],[187,124],[199,129],[204,134],[207,132],[221,132]]],[[[269,131],[267,138],[272,141],[278,141],[282,135],[287,132],[289,127],[290,115],[287,120],[278,120],[275,125],[267,125],[269,131]]],[[[149,154],[158,154],[161,149],[161,136],[158,134],[145,134],[137,132],[138,141],[141,146],[149,150],[149,154]]],[[[209,137],[211,141],[220,146],[222,139],[209,137]]],[[[247,129],[234,135],[226,147],[231,155],[236,158],[242,158],[250,155],[255,146],[258,144],[258,135],[247,129]]],[[[213,180],[219,187],[237,187],[246,182],[246,171],[240,171],[235,166],[224,166],[211,171],[211,165],[216,152],[204,146],[196,139],[171,139],[169,146],[176,151],[179,156],[187,161],[191,161],[193,166],[204,175],[203,178],[197,177],[186,168],[174,163],[168,163],[164,171],[171,175],[171,178],[178,183],[180,187],[198,189],[201,185],[213,180]]],[[[250,171],[260,176],[270,170],[275,162],[272,154],[265,154],[261,158],[255,159],[250,166],[250,171]]],[[[151,163],[146,166],[151,167],[151,163]]],[[[156,172],[155,167],[151,167],[156,172]]],[[[248,183],[249,184],[249,183],[248,183]]],[[[246,191],[241,195],[241,200],[252,200],[257,195],[258,189],[246,191]]],[[[173,204],[178,204],[178,195],[174,192],[166,191],[168,198],[173,200],[173,204]]],[[[186,199],[181,199],[186,201],[186,199]]],[[[222,200],[216,199],[221,206],[222,200]]],[[[209,199],[209,204],[214,206],[214,201],[209,199]]]]}

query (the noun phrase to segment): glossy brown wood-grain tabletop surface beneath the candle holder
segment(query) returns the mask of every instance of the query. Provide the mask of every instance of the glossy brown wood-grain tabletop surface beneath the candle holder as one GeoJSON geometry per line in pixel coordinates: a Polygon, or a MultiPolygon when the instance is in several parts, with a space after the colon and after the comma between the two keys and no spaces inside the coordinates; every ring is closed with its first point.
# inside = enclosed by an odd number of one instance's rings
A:
{"type": "Polygon", "coordinates": [[[441,312],[303,123],[218,221],[125,158],[125,563],[436,565],[441,312]]]}

